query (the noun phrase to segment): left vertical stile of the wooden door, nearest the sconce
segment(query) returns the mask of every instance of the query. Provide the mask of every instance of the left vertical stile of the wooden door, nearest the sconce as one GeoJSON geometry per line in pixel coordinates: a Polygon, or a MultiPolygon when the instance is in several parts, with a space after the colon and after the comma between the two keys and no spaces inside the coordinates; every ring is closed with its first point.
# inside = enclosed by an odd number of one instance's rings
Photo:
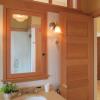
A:
{"type": "Polygon", "coordinates": [[[67,45],[65,45],[66,41],[66,27],[67,27],[67,20],[66,20],[66,13],[65,12],[60,12],[60,25],[61,25],[61,30],[62,30],[62,36],[61,36],[61,95],[66,98],[67,100],[67,66],[65,64],[66,62],[66,48],[67,45]]]}

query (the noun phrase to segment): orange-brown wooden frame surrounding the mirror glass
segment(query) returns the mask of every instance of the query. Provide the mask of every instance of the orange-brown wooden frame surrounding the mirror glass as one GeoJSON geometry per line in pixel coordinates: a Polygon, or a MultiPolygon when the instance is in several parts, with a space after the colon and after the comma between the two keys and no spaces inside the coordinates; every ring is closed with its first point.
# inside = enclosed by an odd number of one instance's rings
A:
{"type": "Polygon", "coordinates": [[[4,77],[3,81],[11,82],[20,82],[20,81],[30,81],[30,80],[39,80],[48,78],[47,71],[47,14],[37,11],[21,11],[14,9],[4,8],[4,33],[3,33],[3,70],[4,77]],[[41,57],[41,66],[38,67],[38,72],[33,73],[24,73],[24,74],[11,74],[10,67],[10,21],[11,15],[13,13],[26,14],[31,16],[41,17],[41,33],[42,33],[42,51],[40,53],[41,57]],[[46,54],[43,56],[43,54],[46,54]],[[43,58],[42,58],[43,57],[43,58]]]}

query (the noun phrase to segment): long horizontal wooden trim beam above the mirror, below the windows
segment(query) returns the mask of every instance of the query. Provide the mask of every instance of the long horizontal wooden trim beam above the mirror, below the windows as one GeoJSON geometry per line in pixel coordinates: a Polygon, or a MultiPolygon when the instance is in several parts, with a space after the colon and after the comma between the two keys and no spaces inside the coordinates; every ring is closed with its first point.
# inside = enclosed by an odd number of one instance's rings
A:
{"type": "MultiPolygon", "coordinates": [[[[51,2],[51,0],[50,0],[51,2]]],[[[11,8],[11,9],[19,9],[19,10],[37,10],[41,12],[74,12],[74,13],[80,13],[80,14],[85,14],[86,13],[78,10],[78,9],[73,9],[73,8],[68,8],[68,7],[63,7],[63,6],[58,6],[58,5],[50,5],[46,3],[41,3],[41,2],[32,2],[31,0],[4,0],[3,2],[0,2],[0,4],[3,4],[4,7],[6,8],[11,8]],[[17,6],[18,5],[18,6],[17,6]]]]}

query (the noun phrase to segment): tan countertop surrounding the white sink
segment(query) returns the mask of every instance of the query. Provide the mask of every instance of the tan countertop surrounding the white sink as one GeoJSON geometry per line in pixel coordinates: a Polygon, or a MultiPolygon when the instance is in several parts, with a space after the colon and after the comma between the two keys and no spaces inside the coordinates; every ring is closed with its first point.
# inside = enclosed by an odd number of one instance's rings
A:
{"type": "MultiPolygon", "coordinates": [[[[22,95],[22,96],[18,96],[16,98],[13,98],[11,100],[25,100],[25,98],[30,97],[30,96],[43,96],[45,97],[47,100],[66,100],[64,99],[62,96],[60,96],[59,94],[57,94],[55,91],[50,91],[48,93],[45,92],[40,92],[38,94],[27,94],[27,95],[22,95]]],[[[4,100],[3,96],[0,96],[0,100],[4,100]]]]}

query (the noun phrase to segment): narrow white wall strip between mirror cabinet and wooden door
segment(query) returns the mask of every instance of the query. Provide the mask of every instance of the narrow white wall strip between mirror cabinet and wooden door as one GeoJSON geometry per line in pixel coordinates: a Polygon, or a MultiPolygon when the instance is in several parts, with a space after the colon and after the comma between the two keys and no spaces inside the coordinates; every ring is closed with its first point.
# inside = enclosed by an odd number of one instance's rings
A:
{"type": "Polygon", "coordinates": [[[60,48],[56,44],[57,35],[49,31],[49,23],[59,23],[59,14],[48,13],[48,67],[50,81],[55,86],[60,84],[60,48]]]}

